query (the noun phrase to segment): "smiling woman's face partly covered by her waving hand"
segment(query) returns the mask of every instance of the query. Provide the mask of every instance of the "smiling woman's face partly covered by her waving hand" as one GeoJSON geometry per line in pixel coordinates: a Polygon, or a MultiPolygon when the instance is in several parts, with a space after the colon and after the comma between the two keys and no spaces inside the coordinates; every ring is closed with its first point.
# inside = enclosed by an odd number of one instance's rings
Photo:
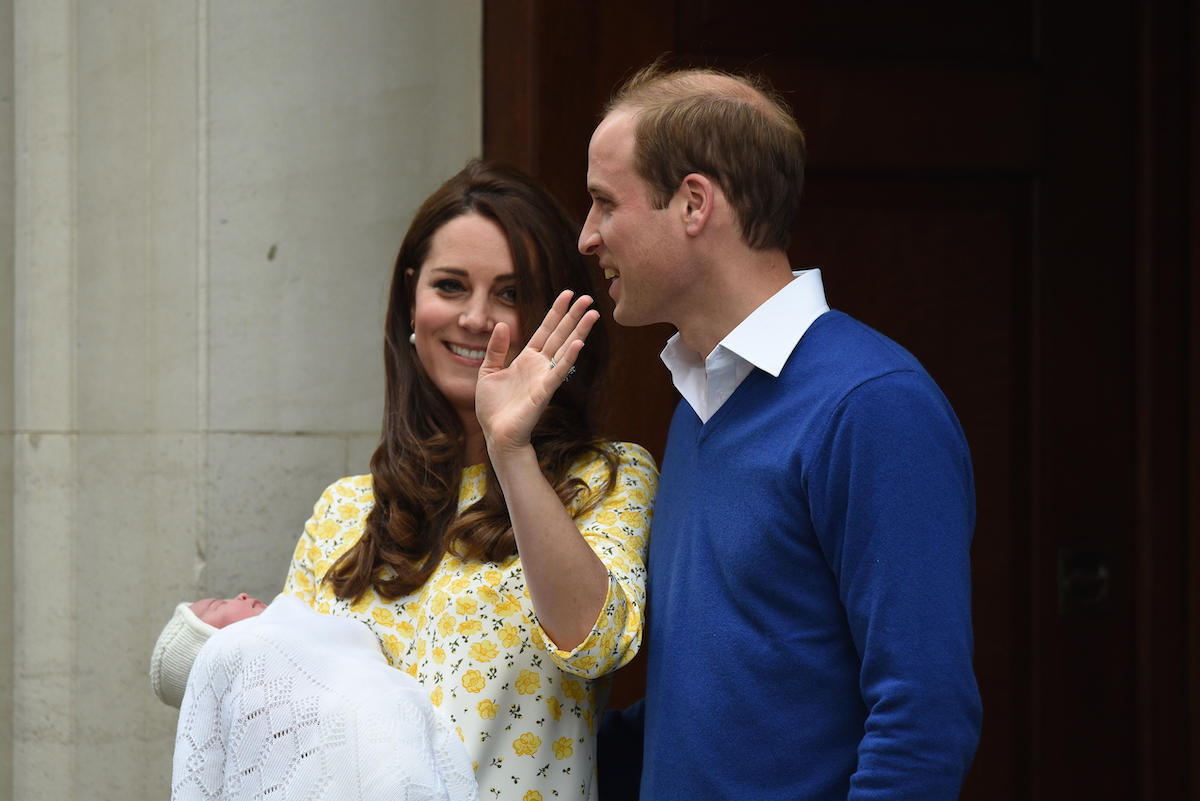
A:
{"type": "Polygon", "coordinates": [[[470,212],[433,234],[413,296],[416,357],[468,426],[492,329],[508,323],[512,333],[505,365],[524,343],[516,300],[512,255],[499,225],[470,212]]]}

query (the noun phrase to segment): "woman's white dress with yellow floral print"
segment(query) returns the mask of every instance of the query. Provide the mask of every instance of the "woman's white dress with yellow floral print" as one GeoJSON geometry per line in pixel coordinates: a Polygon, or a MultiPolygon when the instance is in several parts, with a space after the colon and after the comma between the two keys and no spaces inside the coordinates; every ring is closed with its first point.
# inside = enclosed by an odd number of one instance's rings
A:
{"type": "MultiPolygon", "coordinates": [[[[374,502],[371,476],[331,484],[305,525],[283,591],[324,614],[365,622],[388,661],[428,689],[454,723],[475,766],[481,799],[595,799],[595,727],[607,703],[607,674],[637,654],[646,604],[646,549],[658,488],[653,458],[638,445],[610,444],[620,457],[617,484],[576,517],[608,568],[608,595],[588,638],[562,651],[538,624],[521,559],[462,561],[448,554],[419,590],[396,601],[373,592],[356,603],[320,582],[362,536],[374,502]]],[[[589,487],[604,462],[576,464],[589,487]]],[[[482,464],[467,468],[460,512],[485,490],[482,464]]],[[[576,512],[578,499],[568,506],[576,512]]]]}

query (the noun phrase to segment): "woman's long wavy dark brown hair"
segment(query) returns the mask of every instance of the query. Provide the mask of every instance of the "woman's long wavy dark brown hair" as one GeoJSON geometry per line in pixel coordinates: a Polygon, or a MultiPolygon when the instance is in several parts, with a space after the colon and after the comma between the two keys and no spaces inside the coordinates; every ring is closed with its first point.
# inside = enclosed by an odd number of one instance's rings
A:
{"type": "MultiPolygon", "coordinates": [[[[325,576],[342,598],[358,600],[368,588],[389,600],[408,595],[425,584],[446,550],[488,561],[516,553],[512,523],[491,464],[484,496],[457,514],[467,466],[462,421],[408,342],[414,290],[433,235],[466,213],[491,219],[508,239],[517,317],[527,337],[563,289],[590,291],[576,248],[578,228],[545,188],[520,170],[470,161],[425,200],[404,235],[391,276],[384,326],[383,435],[371,458],[374,507],[362,537],[325,576]]],[[[532,436],[542,472],[564,505],[587,489],[582,480],[568,475],[570,466],[589,453],[606,459],[606,486],[581,498],[578,511],[594,507],[616,483],[617,457],[598,438],[590,406],[601,396],[598,381],[606,357],[607,337],[598,323],[574,377],[556,392],[532,436]]]]}

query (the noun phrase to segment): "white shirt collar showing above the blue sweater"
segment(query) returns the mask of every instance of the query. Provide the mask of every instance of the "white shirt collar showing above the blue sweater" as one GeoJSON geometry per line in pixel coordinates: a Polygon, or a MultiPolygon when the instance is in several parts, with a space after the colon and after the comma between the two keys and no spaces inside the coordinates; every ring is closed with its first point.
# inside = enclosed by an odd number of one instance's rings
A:
{"type": "Polygon", "coordinates": [[[820,270],[799,270],[792,276],[786,287],[730,331],[708,359],[683,344],[678,333],[667,339],[662,363],[702,423],[716,414],[755,367],[779,378],[800,337],[829,311],[820,270]]]}

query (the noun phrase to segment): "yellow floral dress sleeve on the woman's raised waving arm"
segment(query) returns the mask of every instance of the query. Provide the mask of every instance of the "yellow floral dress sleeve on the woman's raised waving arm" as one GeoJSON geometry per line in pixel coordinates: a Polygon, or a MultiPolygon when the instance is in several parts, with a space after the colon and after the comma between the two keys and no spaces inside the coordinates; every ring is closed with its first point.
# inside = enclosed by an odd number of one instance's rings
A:
{"type": "MultiPolygon", "coordinates": [[[[538,626],[553,662],[568,673],[595,679],[626,664],[642,644],[646,610],[646,552],[654,514],[659,470],[640,445],[610,444],[620,459],[617,483],[595,507],[576,514],[586,499],[568,506],[580,532],[608,571],[608,594],[592,632],[571,651],[553,646],[538,626]]],[[[593,458],[574,470],[593,490],[602,489],[605,462],[593,458]]]]}

